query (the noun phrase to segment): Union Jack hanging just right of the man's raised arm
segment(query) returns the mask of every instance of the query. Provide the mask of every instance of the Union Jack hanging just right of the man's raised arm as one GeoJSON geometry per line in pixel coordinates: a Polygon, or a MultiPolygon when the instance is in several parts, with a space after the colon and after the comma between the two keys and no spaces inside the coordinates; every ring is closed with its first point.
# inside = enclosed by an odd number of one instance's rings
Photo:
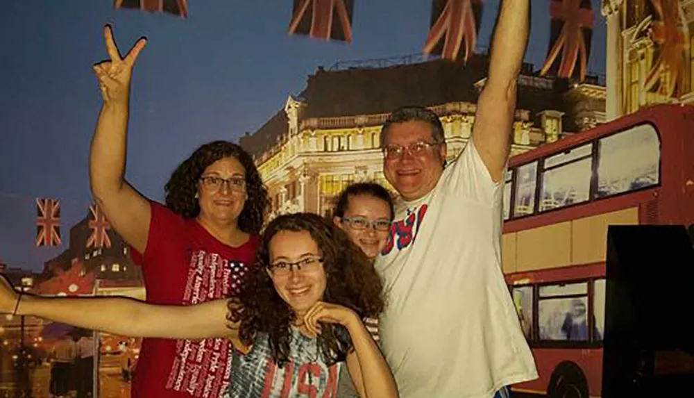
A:
{"type": "Polygon", "coordinates": [[[550,16],[550,45],[540,76],[555,74],[562,78],[578,77],[583,81],[593,35],[591,0],[552,0],[550,16]],[[561,58],[558,58],[559,53],[561,58]]]}

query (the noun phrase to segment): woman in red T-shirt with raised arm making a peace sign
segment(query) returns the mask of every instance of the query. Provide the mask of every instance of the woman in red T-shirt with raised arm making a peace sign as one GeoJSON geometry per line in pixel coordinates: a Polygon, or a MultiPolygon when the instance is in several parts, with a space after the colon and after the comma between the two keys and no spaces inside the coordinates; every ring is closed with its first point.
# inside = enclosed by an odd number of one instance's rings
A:
{"type": "MultiPolygon", "coordinates": [[[[268,204],[253,159],[231,142],[210,142],[171,174],[165,206],[139,194],[124,172],[130,76],[145,40],[121,58],[109,26],[104,34],[110,60],[94,66],[103,96],[90,153],[96,204],[142,265],[147,301],[197,304],[237,295],[253,263],[268,204]]],[[[196,380],[212,380],[205,396],[219,396],[229,382],[229,348],[223,339],[145,339],[133,398],[202,397],[196,380]],[[189,355],[191,350],[197,356],[189,355]],[[200,356],[212,359],[198,363],[200,356]],[[198,379],[187,374],[193,367],[198,379]]]]}

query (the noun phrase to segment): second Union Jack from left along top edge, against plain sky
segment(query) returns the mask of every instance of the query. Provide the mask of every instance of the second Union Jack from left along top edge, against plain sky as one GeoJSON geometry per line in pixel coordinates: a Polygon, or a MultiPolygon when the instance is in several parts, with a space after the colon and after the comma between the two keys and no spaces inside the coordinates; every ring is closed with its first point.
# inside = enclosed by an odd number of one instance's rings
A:
{"type": "Polygon", "coordinates": [[[289,34],[352,42],[353,9],[353,0],[294,0],[289,34]]]}

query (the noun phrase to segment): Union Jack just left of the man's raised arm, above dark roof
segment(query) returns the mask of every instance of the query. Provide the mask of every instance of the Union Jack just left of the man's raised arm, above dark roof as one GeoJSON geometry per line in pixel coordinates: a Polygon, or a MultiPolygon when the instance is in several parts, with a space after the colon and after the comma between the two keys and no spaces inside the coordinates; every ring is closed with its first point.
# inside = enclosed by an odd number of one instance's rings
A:
{"type": "Polygon", "coordinates": [[[465,47],[463,60],[475,51],[482,17],[482,0],[434,0],[425,54],[456,60],[465,47]]]}

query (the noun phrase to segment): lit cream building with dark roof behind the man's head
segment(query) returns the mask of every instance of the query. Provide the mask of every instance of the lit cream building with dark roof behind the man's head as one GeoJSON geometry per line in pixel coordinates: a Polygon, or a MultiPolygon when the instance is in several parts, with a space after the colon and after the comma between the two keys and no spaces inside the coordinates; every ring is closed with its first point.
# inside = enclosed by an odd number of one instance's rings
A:
{"type": "MultiPolygon", "coordinates": [[[[439,115],[448,155],[455,158],[470,138],[488,60],[475,55],[466,65],[391,60],[387,67],[319,67],[301,94],[289,96],[276,115],[239,141],[266,183],[270,217],[329,215],[336,195],[356,181],[391,188],[382,171],[380,130],[400,106],[426,106],[439,115]]],[[[512,154],[604,120],[604,87],[595,77],[575,84],[541,78],[524,65],[518,93],[512,154]]]]}

